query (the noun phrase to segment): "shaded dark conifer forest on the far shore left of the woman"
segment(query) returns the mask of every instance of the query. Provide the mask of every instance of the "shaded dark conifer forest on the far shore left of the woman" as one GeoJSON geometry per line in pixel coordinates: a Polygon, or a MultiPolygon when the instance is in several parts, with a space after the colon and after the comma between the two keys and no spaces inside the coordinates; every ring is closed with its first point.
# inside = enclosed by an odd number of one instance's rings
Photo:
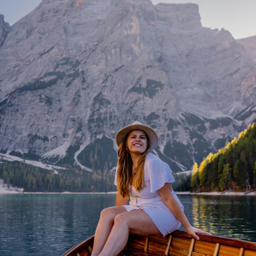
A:
{"type": "Polygon", "coordinates": [[[34,167],[25,162],[3,162],[0,164],[0,178],[9,187],[24,188],[28,192],[107,192],[115,191],[115,172],[94,170],[87,172],[79,169],[58,171],[34,167]]]}

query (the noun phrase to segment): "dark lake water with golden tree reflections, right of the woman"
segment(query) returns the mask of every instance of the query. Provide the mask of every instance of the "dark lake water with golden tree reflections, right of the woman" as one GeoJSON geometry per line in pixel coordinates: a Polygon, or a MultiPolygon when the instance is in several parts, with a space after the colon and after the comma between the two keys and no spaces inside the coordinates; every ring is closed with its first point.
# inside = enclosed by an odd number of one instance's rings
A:
{"type": "Polygon", "coordinates": [[[255,197],[194,195],[183,203],[193,225],[216,236],[256,241],[255,197]]]}

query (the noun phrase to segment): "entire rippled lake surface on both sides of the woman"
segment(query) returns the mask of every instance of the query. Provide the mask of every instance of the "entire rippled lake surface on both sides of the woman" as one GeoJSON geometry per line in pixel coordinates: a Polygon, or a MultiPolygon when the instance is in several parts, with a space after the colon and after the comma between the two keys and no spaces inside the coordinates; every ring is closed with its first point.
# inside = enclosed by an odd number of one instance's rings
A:
{"type": "MultiPolygon", "coordinates": [[[[191,224],[256,242],[256,197],[179,198],[191,224]]],[[[94,234],[100,211],[114,203],[113,194],[0,195],[0,255],[59,256],[94,234]]]]}

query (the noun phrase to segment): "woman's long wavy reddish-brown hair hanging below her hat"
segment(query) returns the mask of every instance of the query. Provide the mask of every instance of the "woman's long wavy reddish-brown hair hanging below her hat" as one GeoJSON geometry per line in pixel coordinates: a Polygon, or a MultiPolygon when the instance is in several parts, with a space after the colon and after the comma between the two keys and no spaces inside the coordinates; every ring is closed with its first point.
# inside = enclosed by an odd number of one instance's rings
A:
{"type": "MultiPolygon", "coordinates": [[[[145,133],[146,134],[146,133],[145,133]]],[[[147,148],[143,155],[138,160],[138,166],[132,173],[132,159],[129,151],[126,149],[126,141],[129,133],[125,139],[120,143],[118,148],[118,169],[117,169],[117,190],[122,197],[129,197],[131,195],[131,186],[133,185],[137,191],[145,187],[144,181],[144,164],[146,155],[150,152],[150,143],[147,137],[147,148]]]]}

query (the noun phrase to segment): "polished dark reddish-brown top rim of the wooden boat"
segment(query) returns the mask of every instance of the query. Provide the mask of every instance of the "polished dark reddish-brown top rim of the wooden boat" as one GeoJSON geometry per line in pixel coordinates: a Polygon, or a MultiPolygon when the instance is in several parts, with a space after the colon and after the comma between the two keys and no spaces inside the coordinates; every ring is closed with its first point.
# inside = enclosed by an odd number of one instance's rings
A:
{"type": "MultiPolygon", "coordinates": [[[[131,234],[132,236],[138,236],[136,234],[131,234]]],[[[187,237],[187,238],[194,238],[190,236],[187,232],[182,231],[182,230],[175,230],[172,233],[168,234],[167,236],[179,236],[179,237],[187,237]]],[[[236,247],[243,247],[246,249],[251,249],[251,250],[256,250],[256,243],[255,242],[250,242],[250,241],[244,241],[244,240],[239,240],[239,239],[234,239],[234,238],[227,238],[227,237],[220,237],[220,236],[213,236],[213,235],[207,235],[207,234],[201,234],[197,233],[199,236],[200,240],[203,241],[208,241],[208,242],[215,242],[219,244],[226,244],[226,245],[231,245],[231,246],[236,246],[236,247]]],[[[141,238],[145,238],[144,236],[138,236],[141,238]]],[[[82,248],[90,245],[93,243],[94,240],[94,235],[88,237],[87,239],[83,240],[82,242],[76,244],[72,248],[70,248],[67,252],[63,253],[61,256],[70,256],[74,255],[75,253],[78,253],[82,248]]],[[[199,241],[200,241],[199,240],[199,241]]]]}

